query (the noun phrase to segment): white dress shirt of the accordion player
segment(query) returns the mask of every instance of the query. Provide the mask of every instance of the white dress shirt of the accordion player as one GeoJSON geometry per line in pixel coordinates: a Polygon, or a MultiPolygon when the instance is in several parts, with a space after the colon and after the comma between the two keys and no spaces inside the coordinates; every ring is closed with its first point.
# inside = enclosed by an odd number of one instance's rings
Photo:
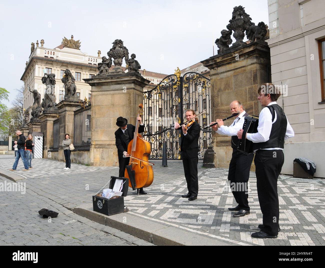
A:
{"type": "MultiPolygon", "coordinates": [[[[267,106],[273,104],[277,104],[277,102],[272,101],[267,106]]],[[[258,127],[257,127],[258,132],[247,133],[246,138],[254,143],[268,141],[271,134],[272,124],[275,121],[277,121],[277,113],[275,112],[274,121],[272,122],[271,111],[266,107],[263,108],[258,118],[258,127]]],[[[288,139],[292,137],[294,137],[294,132],[287,118],[287,131],[285,133],[284,139],[288,139]]],[[[266,148],[263,150],[283,150],[283,148],[266,148]]]]}

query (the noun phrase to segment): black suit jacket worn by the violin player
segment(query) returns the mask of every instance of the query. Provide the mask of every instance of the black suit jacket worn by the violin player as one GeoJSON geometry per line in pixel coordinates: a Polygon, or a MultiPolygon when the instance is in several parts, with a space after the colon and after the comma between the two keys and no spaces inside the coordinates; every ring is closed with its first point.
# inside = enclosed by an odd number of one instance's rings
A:
{"type": "Polygon", "coordinates": [[[185,136],[182,131],[181,152],[186,151],[189,158],[198,157],[200,132],[201,128],[197,121],[191,125],[185,136]]]}

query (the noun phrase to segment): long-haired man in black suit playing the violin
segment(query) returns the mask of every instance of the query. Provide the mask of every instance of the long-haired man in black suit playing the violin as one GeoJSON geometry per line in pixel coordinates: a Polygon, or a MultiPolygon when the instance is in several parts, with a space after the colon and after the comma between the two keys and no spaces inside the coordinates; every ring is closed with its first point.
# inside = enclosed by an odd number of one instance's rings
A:
{"type": "MultiPolygon", "coordinates": [[[[181,136],[181,152],[184,173],[187,183],[188,194],[182,195],[183,198],[188,198],[189,201],[197,199],[199,192],[199,179],[198,179],[198,162],[199,162],[199,137],[201,127],[195,117],[195,111],[188,109],[185,113],[186,120],[189,121],[186,125],[182,126],[181,136]]],[[[175,122],[175,129],[179,128],[179,123],[175,122]]]]}

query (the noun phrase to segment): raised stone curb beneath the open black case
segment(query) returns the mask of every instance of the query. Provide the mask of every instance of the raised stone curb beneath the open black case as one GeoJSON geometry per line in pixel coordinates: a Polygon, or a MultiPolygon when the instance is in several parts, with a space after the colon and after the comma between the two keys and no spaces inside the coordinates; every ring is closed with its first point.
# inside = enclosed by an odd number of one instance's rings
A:
{"type": "Polygon", "coordinates": [[[238,244],[203,236],[178,227],[164,225],[131,213],[107,216],[93,211],[92,203],[74,207],[72,211],[94,222],[121,230],[157,246],[236,246],[238,244]]]}

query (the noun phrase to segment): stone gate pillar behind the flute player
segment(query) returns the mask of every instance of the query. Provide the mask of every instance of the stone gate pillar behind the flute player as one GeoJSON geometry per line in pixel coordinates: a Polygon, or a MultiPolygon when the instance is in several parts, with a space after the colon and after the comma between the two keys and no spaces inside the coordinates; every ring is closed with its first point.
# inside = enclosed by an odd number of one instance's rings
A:
{"type": "MultiPolygon", "coordinates": [[[[266,42],[230,48],[201,62],[210,69],[213,121],[230,116],[229,105],[233,100],[239,100],[248,114],[259,115],[261,106],[257,101],[257,89],[262,83],[271,81],[270,49],[266,42]]],[[[228,168],[232,155],[230,137],[212,132],[215,166],[228,168]]]]}

